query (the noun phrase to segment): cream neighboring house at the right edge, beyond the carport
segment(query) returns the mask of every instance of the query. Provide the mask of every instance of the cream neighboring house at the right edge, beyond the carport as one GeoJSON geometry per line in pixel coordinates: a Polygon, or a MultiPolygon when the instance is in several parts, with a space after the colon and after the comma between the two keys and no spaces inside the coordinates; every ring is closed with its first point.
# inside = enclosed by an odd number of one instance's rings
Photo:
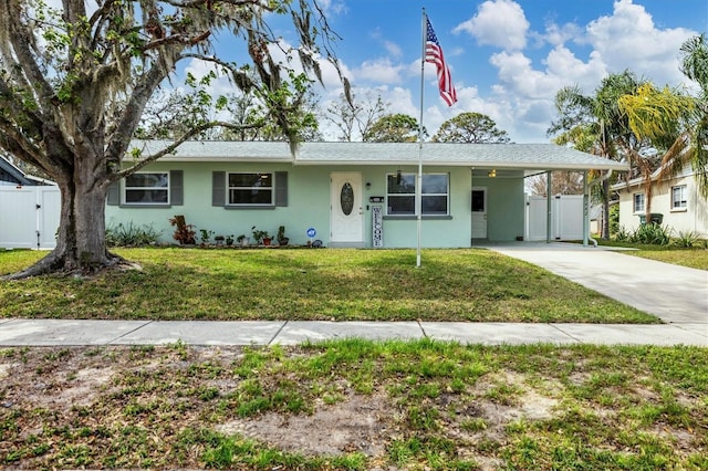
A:
{"type": "MultiPolygon", "coordinates": [[[[658,182],[658,170],[652,175],[652,213],[662,214],[662,226],[674,231],[693,232],[708,239],[708,200],[700,196],[690,165],[673,179],[658,182]]],[[[635,178],[615,184],[612,190],[620,196],[620,227],[634,231],[645,217],[644,181],[635,178]]]]}

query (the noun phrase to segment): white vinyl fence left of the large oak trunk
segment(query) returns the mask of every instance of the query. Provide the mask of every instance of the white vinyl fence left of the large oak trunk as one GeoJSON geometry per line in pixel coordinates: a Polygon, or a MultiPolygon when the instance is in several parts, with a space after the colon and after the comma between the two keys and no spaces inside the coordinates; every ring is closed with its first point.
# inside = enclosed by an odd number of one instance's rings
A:
{"type": "Polygon", "coordinates": [[[53,249],[60,213],[55,186],[0,186],[0,248],[53,249]]]}

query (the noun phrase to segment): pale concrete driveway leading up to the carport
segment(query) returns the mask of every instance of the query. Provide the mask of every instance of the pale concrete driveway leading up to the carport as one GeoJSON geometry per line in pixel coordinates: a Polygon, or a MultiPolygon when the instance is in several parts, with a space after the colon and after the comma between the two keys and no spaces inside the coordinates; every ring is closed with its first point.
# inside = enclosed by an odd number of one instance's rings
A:
{"type": "Polygon", "coordinates": [[[666,323],[706,324],[708,271],[562,242],[489,243],[489,250],[542,266],[666,323]]]}

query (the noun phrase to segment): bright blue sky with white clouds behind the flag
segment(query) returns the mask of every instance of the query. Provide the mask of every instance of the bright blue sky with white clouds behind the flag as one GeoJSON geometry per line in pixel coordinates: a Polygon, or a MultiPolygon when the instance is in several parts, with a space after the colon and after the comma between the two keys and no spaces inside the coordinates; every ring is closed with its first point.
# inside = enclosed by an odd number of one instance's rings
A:
{"type": "MultiPolygon", "coordinates": [[[[426,65],[423,124],[430,134],[464,112],[489,115],[517,143],[548,142],[559,88],[592,93],[628,69],[656,85],[691,86],[681,43],[708,31],[707,0],[326,0],[336,53],[356,95],[381,94],[393,113],[418,118],[423,8],[451,70],[458,103],[438,95],[426,65]]],[[[290,31],[279,31],[285,41],[290,31]]],[[[195,64],[195,71],[198,67],[195,64]]],[[[326,73],[321,104],[341,87],[326,73]]],[[[327,139],[336,139],[323,124],[327,139]]]]}

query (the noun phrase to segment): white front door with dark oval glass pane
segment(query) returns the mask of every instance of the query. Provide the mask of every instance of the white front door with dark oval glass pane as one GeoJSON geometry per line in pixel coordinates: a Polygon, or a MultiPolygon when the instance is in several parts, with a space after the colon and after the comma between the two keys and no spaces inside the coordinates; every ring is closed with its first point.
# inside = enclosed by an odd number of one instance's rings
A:
{"type": "Polygon", "coordinates": [[[362,174],[331,175],[330,230],[331,247],[364,247],[362,174]]]}

